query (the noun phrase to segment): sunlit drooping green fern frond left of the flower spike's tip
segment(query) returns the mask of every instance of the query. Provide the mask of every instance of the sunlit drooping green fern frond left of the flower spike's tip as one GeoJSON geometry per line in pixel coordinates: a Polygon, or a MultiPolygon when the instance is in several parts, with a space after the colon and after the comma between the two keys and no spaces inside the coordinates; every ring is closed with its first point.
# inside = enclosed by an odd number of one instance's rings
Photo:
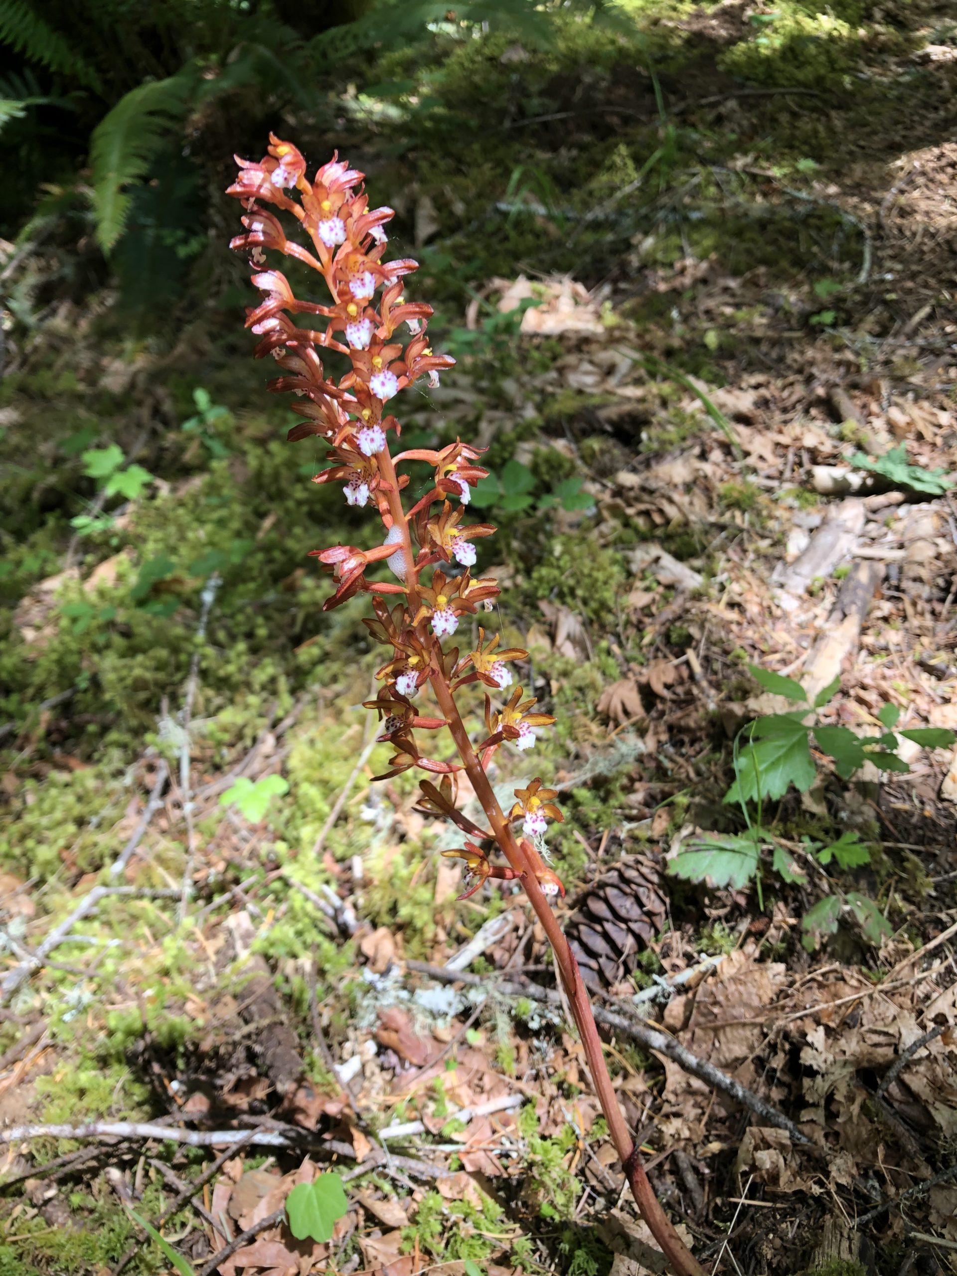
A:
{"type": "Polygon", "coordinates": [[[163,80],[147,80],[121,97],[93,130],[89,143],[97,240],[105,253],[126,225],[126,188],[149,171],[157,151],[180,120],[195,93],[197,71],[190,64],[163,80]]]}

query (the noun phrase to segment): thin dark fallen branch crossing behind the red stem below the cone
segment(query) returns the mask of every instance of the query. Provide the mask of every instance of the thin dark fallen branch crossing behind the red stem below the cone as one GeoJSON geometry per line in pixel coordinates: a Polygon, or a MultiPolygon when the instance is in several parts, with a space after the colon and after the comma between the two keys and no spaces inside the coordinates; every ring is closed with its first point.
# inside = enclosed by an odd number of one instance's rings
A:
{"type": "MultiPolygon", "coordinates": [[[[422,961],[407,961],[406,967],[416,971],[416,974],[427,975],[444,984],[463,983],[477,986],[489,983],[487,979],[482,979],[478,975],[468,975],[454,970],[450,971],[444,966],[431,966],[429,962],[422,961]]],[[[521,984],[510,984],[505,981],[495,983],[494,989],[504,997],[527,997],[533,1002],[545,1002],[549,1005],[561,1005],[561,997],[558,989],[542,988],[540,984],[532,984],[526,980],[522,980],[521,984]]],[[[695,1054],[692,1054],[690,1050],[686,1050],[679,1041],[675,1041],[674,1037],[667,1036],[665,1032],[657,1032],[655,1028],[649,1028],[646,1023],[633,1020],[630,1016],[616,1014],[614,1011],[606,1011],[597,1005],[595,1007],[595,1018],[605,1027],[614,1028],[616,1032],[623,1032],[625,1036],[630,1036],[632,1040],[638,1041],[641,1045],[646,1046],[646,1049],[666,1055],[679,1067],[684,1068],[685,1072],[689,1072],[693,1077],[698,1077],[699,1081],[704,1081],[716,1090],[721,1090],[736,1102],[749,1108],[755,1115],[760,1116],[762,1120],[767,1122],[768,1125],[776,1125],[778,1129],[786,1129],[795,1143],[810,1145],[808,1136],[804,1134],[789,1116],[785,1116],[783,1113],[780,1113],[776,1108],[766,1104],[763,1099],[759,1099],[753,1091],[746,1090],[739,1081],[735,1081],[734,1077],[729,1077],[727,1073],[721,1072],[720,1068],[716,1068],[713,1064],[707,1063],[704,1059],[699,1059],[695,1054]]]]}

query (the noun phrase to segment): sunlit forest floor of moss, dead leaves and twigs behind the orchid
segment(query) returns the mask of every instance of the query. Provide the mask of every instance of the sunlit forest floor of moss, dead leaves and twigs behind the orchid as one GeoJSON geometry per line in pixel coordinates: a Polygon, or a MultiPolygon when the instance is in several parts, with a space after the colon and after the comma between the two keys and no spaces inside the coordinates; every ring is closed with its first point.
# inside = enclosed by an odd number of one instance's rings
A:
{"type": "MultiPolygon", "coordinates": [[[[898,736],[909,769],[849,780],[822,735],[757,815],[723,800],[789,708],[754,667],[840,678],[826,731],[957,727],[957,48],[903,10],[843,79],[746,87],[744,9],[681,10],[664,115],[618,84],[575,198],[544,175],[593,116],[532,117],[494,268],[440,306],[459,366],[403,419],[489,448],[487,619],[558,718],[495,782],[561,792],[558,911],[716,1272],[956,1266],[957,755],[898,736]]],[[[424,171],[427,279],[477,232],[424,171]]],[[[662,1270],[521,896],[457,903],[412,782],[370,783],[376,653],[304,565],[360,519],[279,441],[241,302],[124,339],[61,264],[0,394],[0,1276],[662,1270]],[[296,1240],[329,1168],[348,1212],[296,1240]]]]}

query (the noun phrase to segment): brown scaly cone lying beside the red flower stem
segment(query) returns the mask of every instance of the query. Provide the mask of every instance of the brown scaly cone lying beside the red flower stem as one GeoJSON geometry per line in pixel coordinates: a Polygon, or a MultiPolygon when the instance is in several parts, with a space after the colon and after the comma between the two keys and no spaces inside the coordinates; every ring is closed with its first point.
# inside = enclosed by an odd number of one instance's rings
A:
{"type": "Polygon", "coordinates": [[[582,979],[592,988],[625,979],[667,916],[657,865],[624,855],[574,901],[565,934],[582,979]]]}

